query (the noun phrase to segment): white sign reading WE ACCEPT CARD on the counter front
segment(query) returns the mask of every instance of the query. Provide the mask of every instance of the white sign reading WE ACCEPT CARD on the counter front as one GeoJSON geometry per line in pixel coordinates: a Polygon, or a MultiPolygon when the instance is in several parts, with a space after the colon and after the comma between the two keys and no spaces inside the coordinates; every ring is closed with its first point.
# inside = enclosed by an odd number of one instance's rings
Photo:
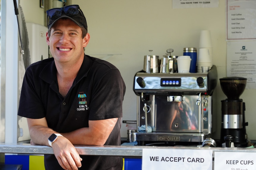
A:
{"type": "Polygon", "coordinates": [[[143,149],[142,170],[212,170],[212,150],[143,149]]]}

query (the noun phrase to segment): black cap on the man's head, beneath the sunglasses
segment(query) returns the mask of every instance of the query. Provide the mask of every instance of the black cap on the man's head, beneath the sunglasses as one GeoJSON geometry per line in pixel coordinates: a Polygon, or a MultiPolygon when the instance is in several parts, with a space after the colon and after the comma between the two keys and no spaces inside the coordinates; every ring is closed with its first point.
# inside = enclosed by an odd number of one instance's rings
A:
{"type": "Polygon", "coordinates": [[[73,16],[68,16],[65,12],[62,11],[61,16],[59,18],[56,18],[54,20],[51,20],[51,19],[49,20],[48,29],[50,29],[54,25],[54,23],[61,18],[69,18],[70,20],[74,21],[78,26],[85,27],[85,29],[87,30],[86,19],[80,11],[78,11],[77,15],[73,15],[73,16]]]}

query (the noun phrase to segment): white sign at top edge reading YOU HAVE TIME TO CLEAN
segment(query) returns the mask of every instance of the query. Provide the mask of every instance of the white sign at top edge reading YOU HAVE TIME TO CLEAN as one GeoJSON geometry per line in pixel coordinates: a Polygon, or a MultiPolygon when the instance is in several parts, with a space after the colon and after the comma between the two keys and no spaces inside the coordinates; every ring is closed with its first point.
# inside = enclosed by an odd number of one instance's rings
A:
{"type": "Polygon", "coordinates": [[[173,8],[217,8],[219,0],[173,0],[173,8]]]}

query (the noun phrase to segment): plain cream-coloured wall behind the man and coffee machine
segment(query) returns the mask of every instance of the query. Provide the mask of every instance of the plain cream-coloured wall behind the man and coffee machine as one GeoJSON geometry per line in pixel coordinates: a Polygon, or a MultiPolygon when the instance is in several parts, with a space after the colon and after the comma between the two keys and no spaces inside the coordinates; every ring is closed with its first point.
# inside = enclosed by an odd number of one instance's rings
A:
{"type": "MultiPolygon", "coordinates": [[[[39,7],[39,4],[31,4],[29,0],[20,1],[22,7],[28,4],[39,7]]],[[[227,50],[223,0],[219,1],[217,8],[189,9],[172,9],[172,0],[69,0],[69,4],[79,4],[86,16],[91,35],[86,54],[99,58],[115,54],[107,61],[118,67],[127,86],[123,120],[136,120],[137,98],[132,90],[133,78],[135,73],[143,68],[144,55],[150,54],[148,50],[153,50],[152,55],[162,57],[168,48],[173,48],[172,54],[179,56],[183,54],[184,47],[198,48],[201,30],[211,30],[213,63],[217,66],[218,78],[226,77],[227,50]]],[[[37,13],[41,13],[41,10],[37,10],[37,13]]],[[[29,11],[24,14],[29,22],[39,22],[39,17],[31,15],[41,17],[41,14],[29,11]]],[[[255,94],[255,89],[246,89],[240,97],[246,103],[245,117],[246,122],[249,122],[246,129],[251,140],[256,139],[255,94]]],[[[213,104],[213,111],[216,114],[214,139],[220,138],[221,100],[225,98],[218,81],[213,104]]],[[[121,137],[127,136],[125,125],[122,125],[121,137]]]]}

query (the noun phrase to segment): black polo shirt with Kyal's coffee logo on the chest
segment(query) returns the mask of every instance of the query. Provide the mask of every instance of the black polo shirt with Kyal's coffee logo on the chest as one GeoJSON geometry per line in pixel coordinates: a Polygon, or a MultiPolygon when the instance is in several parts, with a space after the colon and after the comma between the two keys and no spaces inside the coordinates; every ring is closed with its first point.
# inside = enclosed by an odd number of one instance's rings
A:
{"type": "MultiPolygon", "coordinates": [[[[120,145],[125,84],[107,61],[84,55],[82,66],[65,96],[59,93],[54,59],[31,64],[23,80],[18,115],[40,119],[59,133],[88,127],[88,120],[119,118],[105,145],[120,145]]],[[[81,169],[121,169],[122,158],[81,156],[81,169]]],[[[45,155],[45,169],[62,169],[54,155],[45,155]]]]}

